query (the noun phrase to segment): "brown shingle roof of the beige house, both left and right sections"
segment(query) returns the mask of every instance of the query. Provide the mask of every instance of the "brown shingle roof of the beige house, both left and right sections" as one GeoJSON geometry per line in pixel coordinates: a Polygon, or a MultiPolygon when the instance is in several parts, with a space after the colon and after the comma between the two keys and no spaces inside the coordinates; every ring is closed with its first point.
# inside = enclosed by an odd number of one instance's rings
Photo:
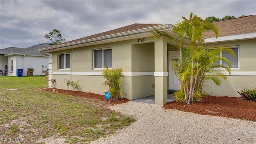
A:
{"type": "MultiPolygon", "coordinates": [[[[213,22],[213,23],[219,28],[219,31],[220,31],[219,37],[256,32],[256,15],[245,16],[242,18],[234,18],[231,20],[222,20],[222,21],[213,22]]],[[[83,40],[90,40],[93,38],[100,38],[100,37],[109,36],[112,34],[119,34],[119,33],[129,32],[129,31],[133,31],[133,30],[151,28],[151,27],[160,26],[160,25],[163,25],[163,24],[138,24],[138,23],[135,23],[135,24],[121,27],[121,28],[116,28],[114,30],[109,30],[107,32],[102,32],[99,34],[86,36],[84,38],[79,38],[76,40],[64,42],[64,43],[58,44],[57,46],[60,46],[62,44],[69,44],[69,43],[73,43],[73,42],[80,42],[83,40]]],[[[214,37],[215,37],[214,32],[205,32],[204,33],[204,38],[214,38],[214,37]]]]}

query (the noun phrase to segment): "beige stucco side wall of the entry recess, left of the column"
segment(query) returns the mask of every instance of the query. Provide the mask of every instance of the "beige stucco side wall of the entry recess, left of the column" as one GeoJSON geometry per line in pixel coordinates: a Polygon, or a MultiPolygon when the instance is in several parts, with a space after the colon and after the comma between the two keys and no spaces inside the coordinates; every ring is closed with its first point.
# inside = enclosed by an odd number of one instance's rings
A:
{"type": "MultiPolygon", "coordinates": [[[[154,72],[154,43],[132,45],[132,72],[154,72]]],[[[154,76],[132,76],[132,99],[150,95],[154,76]]]]}

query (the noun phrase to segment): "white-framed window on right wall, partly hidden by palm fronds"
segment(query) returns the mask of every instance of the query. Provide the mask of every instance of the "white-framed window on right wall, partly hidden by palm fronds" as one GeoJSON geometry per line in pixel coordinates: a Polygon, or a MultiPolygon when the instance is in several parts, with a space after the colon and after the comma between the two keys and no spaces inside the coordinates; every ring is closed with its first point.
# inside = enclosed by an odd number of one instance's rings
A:
{"type": "MultiPolygon", "coordinates": [[[[231,54],[229,54],[228,52],[222,52],[222,56],[225,56],[226,58],[228,58],[231,62],[231,68],[239,68],[239,47],[235,46],[235,47],[230,47],[233,51],[235,56],[233,57],[231,54]]],[[[222,64],[224,66],[228,66],[228,64],[222,60],[219,60],[217,64],[222,64]]]]}

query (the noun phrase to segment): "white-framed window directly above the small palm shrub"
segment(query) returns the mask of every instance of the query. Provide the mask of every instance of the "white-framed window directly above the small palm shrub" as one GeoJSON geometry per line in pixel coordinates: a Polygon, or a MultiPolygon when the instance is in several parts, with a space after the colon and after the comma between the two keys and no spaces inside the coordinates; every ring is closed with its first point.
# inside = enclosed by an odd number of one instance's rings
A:
{"type": "Polygon", "coordinates": [[[104,66],[112,68],[112,49],[93,50],[93,68],[102,69],[104,66]]]}

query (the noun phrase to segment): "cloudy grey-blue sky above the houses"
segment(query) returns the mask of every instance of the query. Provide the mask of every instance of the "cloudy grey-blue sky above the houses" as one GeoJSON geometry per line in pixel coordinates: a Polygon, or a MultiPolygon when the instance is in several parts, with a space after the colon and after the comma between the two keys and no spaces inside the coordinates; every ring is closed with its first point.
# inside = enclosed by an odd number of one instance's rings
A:
{"type": "Polygon", "coordinates": [[[57,29],[67,41],[134,23],[174,24],[193,12],[201,18],[255,15],[256,1],[0,1],[0,48],[50,42],[57,29]]]}

